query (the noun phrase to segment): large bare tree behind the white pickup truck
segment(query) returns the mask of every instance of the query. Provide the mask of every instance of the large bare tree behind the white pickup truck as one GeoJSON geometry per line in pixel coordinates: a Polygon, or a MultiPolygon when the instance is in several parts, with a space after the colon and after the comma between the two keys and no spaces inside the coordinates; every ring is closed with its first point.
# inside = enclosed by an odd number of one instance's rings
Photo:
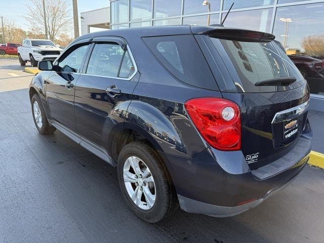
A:
{"type": "MultiPolygon", "coordinates": [[[[46,23],[51,41],[57,35],[71,32],[73,26],[70,16],[71,8],[67,0],[45,0],[46,23]]],[[[45,21],[42,0],[29,0],[26,4],[27,14],[24,16],[29,26],[36,32],[45,33],[45,21]]]]}

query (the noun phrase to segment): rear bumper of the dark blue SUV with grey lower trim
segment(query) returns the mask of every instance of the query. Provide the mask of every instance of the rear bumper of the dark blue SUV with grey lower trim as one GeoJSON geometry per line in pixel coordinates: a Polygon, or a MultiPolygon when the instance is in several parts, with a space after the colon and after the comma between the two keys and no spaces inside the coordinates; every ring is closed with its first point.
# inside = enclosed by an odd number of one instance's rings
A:
{"type": "Polygon", "coordinates": [[[312,133],[273,163],[251,171],[241,151],[208,148],[192,159],[161,153],[173,179],[181,209],[228,217],[254,208],[284,189],[307,164],[312,133]],[[290,158],[290,159],[288,159],[290,158]],[[247,203],[249,202],[249,203],[247,203]]]}

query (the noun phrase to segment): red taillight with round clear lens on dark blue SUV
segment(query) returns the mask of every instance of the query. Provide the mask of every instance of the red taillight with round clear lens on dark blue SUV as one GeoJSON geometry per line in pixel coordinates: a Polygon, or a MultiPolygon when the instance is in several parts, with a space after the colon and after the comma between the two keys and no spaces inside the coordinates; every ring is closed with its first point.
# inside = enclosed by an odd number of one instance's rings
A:
{"type": "Polygon", "coordinates": [[[237,104],[223,98],[196,98],[185,108],[201,136],[219,150],[241,148],[241,119],[237,104]]]}

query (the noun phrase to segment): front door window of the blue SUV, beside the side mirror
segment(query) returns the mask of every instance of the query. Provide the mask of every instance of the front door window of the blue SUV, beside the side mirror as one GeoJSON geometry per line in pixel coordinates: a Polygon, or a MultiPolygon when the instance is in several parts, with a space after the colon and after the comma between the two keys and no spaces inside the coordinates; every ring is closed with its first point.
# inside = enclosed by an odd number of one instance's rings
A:
{"type": "Polygon", "coordinates": [[[62,72],[78,72],[89,45],[80,46],[59,60],[58,66],[62,72]]]}

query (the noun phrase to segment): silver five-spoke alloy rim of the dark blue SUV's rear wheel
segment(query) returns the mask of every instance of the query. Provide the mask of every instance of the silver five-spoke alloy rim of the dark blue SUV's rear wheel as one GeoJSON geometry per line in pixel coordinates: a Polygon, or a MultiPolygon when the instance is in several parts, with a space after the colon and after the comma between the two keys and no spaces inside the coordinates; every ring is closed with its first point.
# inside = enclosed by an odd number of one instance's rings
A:
{"type": "Polygon", "coordinates": [[[139,157],[131,156],[125,161],[123,176],[133,203],[142,210],[151,209],[155,203],[156,189],[147,165],[139,157]]]}

